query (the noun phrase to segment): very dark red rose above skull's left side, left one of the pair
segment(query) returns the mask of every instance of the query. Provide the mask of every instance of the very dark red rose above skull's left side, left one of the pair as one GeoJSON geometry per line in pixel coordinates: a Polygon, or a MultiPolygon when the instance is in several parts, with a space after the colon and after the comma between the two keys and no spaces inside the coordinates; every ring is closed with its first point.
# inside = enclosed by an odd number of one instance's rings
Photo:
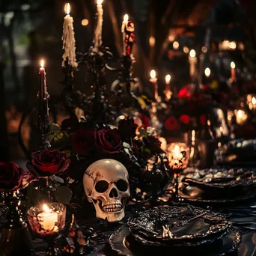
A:
{"type": "Polygon", "coordinates": [[[79,128],[72,136],[72,147],[82,156],[88,155],[94,146],[94,133],[89,128],[79,128]]]}

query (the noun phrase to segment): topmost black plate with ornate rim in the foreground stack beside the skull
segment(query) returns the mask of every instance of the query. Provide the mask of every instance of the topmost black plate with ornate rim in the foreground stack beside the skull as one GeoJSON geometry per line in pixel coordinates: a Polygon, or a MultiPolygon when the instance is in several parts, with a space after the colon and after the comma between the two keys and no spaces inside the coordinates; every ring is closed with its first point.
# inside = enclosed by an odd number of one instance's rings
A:
{"type": "Polygon", "coordinates": [[[228,222],[219,213],[197,207],[160,206],[139,212],[129,218],[127,225],[132,234],[153,243],[195,243],[202,240],[217,239],[228,229],[228,222]],[[196,216],[200,218],[194,219],[196,216]],[[188,223],[181,223],[188,221],[188,223]],[[173,225],[176,222],[179,225],[173,225]],[[162,237],[164,227],[171,234],[162,237]]]}

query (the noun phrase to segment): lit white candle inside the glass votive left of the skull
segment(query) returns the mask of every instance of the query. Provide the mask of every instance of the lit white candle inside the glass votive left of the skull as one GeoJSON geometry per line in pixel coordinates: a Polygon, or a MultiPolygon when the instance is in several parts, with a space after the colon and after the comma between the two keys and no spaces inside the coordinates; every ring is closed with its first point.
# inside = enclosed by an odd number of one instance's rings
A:
{"type": "Polygon", "coordinates": [[[58,213],[53,212],[46,204],[43,204],[43,212],[37,215],[38,221],[46,231],[52,231],[55,223],[58,223],[58,213]]]}

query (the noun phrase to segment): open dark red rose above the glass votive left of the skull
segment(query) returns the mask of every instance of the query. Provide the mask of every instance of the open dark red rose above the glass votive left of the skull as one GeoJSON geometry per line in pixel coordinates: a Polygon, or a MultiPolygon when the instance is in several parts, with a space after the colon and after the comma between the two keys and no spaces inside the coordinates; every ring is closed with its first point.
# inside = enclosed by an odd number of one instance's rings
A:
{"type": "Polygon", "coordinates": [[[28,162],[28,170],[40,177],[48,177],[64,172],[70,159],[66,153],[58,150],[43,150],[32,153],[32,160],[28,162]]]}

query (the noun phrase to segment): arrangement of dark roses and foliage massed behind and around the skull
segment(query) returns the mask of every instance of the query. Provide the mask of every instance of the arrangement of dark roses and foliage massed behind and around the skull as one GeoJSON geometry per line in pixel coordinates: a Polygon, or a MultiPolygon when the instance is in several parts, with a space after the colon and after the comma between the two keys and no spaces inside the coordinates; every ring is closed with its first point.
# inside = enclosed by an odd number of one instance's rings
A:
{"type": "MultiPolygon", "coordinates": [[[[82,177],[85,170],[99,159],[116,159],[126,166],[129,171],[132,197],[137,196],[138,190],[143,192],[149,189],[148,183],[144,183],[144,172],[148,171],[148,161],[153,156],[161,156],[156,165],[162,170],[162,178],[166,177],[168,164],[165,153],[161,149],[161,142],[144,128],[138,131],[138,125],[135,124],[133,118],[121,119],[118,127],[106,124],[94,125],[84,118],[79,121],[75,130],[72,122],[70,122],[70,127],[67,127],[67,121],[62,124],[65,124],[65,129],[52,124],[49,132],[49,139],[54,150],[34,153],[31,162],[28,162],[28,168],[40,175],[43,175],[43,171],[45,174],[61,177],[58,181],[61,181],[61,186],[70,189],[73,193],[72,200],[77,204],[82,203],[81,195],[84,194],[82,177]],[[68,159],[63,158],[63,151],[68,159]],[[58,171],[52,172],[53,166],[58,171]],[[61,174],[66,167],[66,171],[61,174]]],[[[54,180],[56,180],[55,176],[54,180]]]]}

